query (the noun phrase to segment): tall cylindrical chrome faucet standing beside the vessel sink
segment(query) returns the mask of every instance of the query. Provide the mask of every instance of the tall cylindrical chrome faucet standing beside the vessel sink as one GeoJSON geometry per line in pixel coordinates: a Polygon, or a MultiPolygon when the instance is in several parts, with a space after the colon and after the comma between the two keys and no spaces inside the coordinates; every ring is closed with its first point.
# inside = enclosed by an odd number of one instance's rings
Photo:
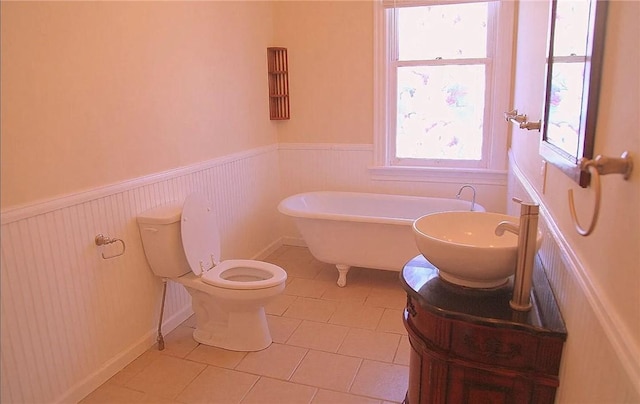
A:
{"type": "Polygon", "coordinates": [[[533,261],[536,256],[538,239],[538,213],[540,207],[537,203],[522,202],[513,198],[520,204],[520,224],[515,225],[509,221],[503,221],[496,227],[496,235],[502,236],[505,231],[518,235],[518,258],[516,261],[516,274],[513,280],[513,296],[509,305],[514,310],[527,311],[531,309],[531,286],[533,283],[533,261]]]}

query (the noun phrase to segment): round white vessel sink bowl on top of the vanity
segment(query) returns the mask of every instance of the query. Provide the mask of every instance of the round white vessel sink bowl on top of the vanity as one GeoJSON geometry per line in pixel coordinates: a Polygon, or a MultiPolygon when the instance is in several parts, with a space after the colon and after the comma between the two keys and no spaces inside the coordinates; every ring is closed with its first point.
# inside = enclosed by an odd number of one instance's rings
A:
{"type": "MultiPolygon", "coordinates": [[[[438,212],[413,223],[418,250],[444,280],[470,288],[495,288],[513,275],[518,236],[495,234],[502,221],[518,226],[515,216],[490,212],[438,212]]],[[[536,249],[542,234],[538,230],[536,249]]]]}

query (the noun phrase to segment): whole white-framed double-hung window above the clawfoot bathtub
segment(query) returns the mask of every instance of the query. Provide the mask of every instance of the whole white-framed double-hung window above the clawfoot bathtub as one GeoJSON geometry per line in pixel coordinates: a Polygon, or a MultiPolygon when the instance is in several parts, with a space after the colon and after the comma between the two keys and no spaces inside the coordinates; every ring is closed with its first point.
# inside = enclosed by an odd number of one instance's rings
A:
{"type": "Polygon", "coordinates": [[[383,0],[376,166],[505,170],[513,5],[383,0]]]}

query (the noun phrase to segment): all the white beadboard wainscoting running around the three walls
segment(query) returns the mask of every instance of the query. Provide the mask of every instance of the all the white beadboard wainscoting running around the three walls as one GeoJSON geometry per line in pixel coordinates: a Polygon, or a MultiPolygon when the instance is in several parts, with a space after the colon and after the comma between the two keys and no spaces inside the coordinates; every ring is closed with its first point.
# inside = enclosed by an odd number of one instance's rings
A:
{"type": "MultiPolygon", "coordinates": [[[[155,342],[162,282],[148,268],[135,218],[190,192],[214,203],[223,258],[262,258],[294,237],[276,206],[298,192],[454,197],[460,183],[472,183],[488,210],[504,211],[511,196],[540,199],[513,162],[508,180],[487,183],[379,180],[372,162],[371,145],[271,145],[2,211],[0,400],[78,401],[155,342]],[[97,247],[99,233],[123,239],[126,253],[102,259],[118,246],[97,247]]],[[[637,401],[637,353],[544,205],[541,212],[540,254],[569,331],[558,402],[637,401]]],[[[190,301],[169,284],[165,333],[191,314],[190,301]]]]}

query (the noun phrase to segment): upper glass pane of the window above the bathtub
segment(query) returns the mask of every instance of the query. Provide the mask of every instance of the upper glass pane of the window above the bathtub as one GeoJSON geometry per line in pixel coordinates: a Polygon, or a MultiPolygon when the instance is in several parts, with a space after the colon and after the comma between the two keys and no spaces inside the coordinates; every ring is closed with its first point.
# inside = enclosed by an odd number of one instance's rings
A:
{"type": "Polygon", "coordinates": [[[484,58],[487,3],[398,9],[400,60],[484,58]]]}

